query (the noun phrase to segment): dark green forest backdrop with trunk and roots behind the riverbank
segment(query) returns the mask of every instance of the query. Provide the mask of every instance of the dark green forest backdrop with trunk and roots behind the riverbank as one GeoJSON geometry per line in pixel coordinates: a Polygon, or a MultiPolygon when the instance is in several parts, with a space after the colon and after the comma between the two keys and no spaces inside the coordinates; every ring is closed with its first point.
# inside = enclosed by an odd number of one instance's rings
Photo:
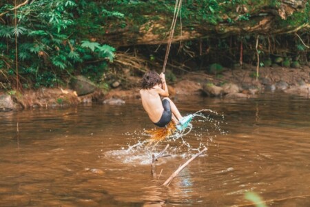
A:
{"type": "MultiPolygon", "coordinates": [[[[0,89],[66,87],[83,75],[109,90],[163,67],[175,0],[0,1],[0,89]]],[[[183,0],[166,77],[310,59],[309,0],[183,0]]],[[[253,75],[259,77],[259,72],[253,75]]]]}

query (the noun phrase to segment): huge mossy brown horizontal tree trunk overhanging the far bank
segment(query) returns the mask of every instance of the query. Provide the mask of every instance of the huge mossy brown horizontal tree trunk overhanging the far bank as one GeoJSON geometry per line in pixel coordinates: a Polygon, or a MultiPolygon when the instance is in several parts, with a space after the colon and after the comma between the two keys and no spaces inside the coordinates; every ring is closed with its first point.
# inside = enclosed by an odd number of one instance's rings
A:
{"type": "MultiPolygon", "coordinates": [[[[249,5],[239,5],[234,9],[230,17],[221,14],[222,21],[216,25],[187,21],[182,26],[176,26],[176,34],[173,42],[188,41],[191,39],[203,39],[208,37],[229,37],[231,35],[246,34],[284,34],[309,28],[309,23],[291,23],[279,26],[279,22],[291,17],[294,12],[306,12],[307,0],[282,0],[280,5],[274,7],[261,7],[251,9],[249,5]],[[250,10],[251,9],[251,10],[250,10]],[[233,21],[229,23],[229,19],[233,21]],[[247,19],[242,19],[247,17],[247,19]],[[180,31],[180,27],[182,30],[180,31]]],[[[119,46],[134,45],[158,45],[167,43],[167,36],[171,23],[167,17],[161,17],[158,21],[149,21],[136,29],[127,26],[123,29],[107,31],[102,42],[119,46]]]]}

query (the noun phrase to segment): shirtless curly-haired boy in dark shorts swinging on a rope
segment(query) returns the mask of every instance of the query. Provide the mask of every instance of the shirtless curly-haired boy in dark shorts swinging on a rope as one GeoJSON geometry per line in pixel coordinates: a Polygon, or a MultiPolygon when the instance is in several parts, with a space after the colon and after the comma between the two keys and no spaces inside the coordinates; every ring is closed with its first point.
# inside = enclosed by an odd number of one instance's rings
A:
{"type": "Polygon", "coordinates": [[[163,72],[161,75],[155,71],[146,72],[141,81],[141,88],[143,108],[156,126],[164,127],[172,120],[178,130],[187,127],[192,115],[182,117],[174,102],[168,98],[169,92],[163,72]],[[161,100],[160,96],[165,98],[161,100]]]}

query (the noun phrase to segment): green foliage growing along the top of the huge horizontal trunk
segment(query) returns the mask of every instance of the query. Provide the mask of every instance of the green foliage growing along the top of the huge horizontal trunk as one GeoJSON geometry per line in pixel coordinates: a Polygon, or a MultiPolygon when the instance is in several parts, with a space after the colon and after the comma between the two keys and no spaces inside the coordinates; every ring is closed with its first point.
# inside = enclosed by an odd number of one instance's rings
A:
{"type": "MultiPolygon", "coordinates": [[[[117,10],[118,12],[98,11],[97,13],[103,12],[105,17],[101,17],[100,20],[94,17],[92,21],[101,21],[104,26],[109,25],[108,29],[103,30],[103,32],[106,33],[124,28],[134,33],[139,29],[136,28],[136,26],[145,26],[145,30],[152,28],[152,26],[154,26],[152,20],[154,20],[156,23],[161,23],[165,28],[158,33],[156,30],[160,29],[153,28],[152,32],[154,32],[154,34],[161,34],[165,37],[164,34],[168,32],[169,24],[172,22],[175,3],[175,0],[105,1],[104,4],[106,8],[113,8],[113,10],[117,10]]],[[[87,8],[91,8],[91,5],[94,4],[88,3],[87,8]]],[[[278,10],[281,6],[282,1],[280,0],[187,0],[183,1],[179,16],[182,19],[183,28],[187,28],[188,30],[190,28],[195,30],[199,27],[212,28],[218,26],[218,23],[242,23],[242,21],[250,21],[250,23],[255,25],[257,24],[257,16],[261,13],[263,15],[264,13],[262,10],[265,10],[265,8],[274,8],[274,10],[278,10]],[[251,14],[255,14],[254,18],[251,18],[250,12],[251,14]]],[[[298,12],[293,12],[293,16],[296,15],[296,17],[288,17],[287,21],[278,16],[275,18],[279,23],[285,23],[286,26],[287,23],[289,23],[289,19],[293,19],[291,23],[294,26],[300,25],[300,23],[307,23],[309,22],[310,13],[308,7],[309,3],[307,3],[306,12],[299,12],[300,14],[298,14],[298,12]],[[299,19],[299,21],[297,21],[297,19],[299,19]]],[[[96,12],[94,13],[96,14],[96,12]]],[[[278,26],[278,23],[276,26],[278,26]]],[[[176,29],[175,32],[177,34],[180,31],[176,29]]]]}

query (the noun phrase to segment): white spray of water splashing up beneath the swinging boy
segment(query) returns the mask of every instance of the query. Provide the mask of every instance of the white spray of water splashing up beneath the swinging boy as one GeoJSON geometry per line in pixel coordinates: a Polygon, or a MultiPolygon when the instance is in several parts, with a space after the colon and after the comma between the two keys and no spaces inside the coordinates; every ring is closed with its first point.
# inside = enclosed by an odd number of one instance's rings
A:
{"type": "Polygon", "coordinates": [[[123,147],[121,150],[108,151],[105,152],[105,155],[110,159],[113,158],[125,164],[151,164],[152,155],[158,155],[165,147],[165,144],[170,144],[166,153],[172,157],[188,157],[207,148],[209,142],[212,142],[218,134],[227,134],[221,128],[223,124],[227,124],[224,115],[219,115],[218,112],[209,109],[198,110],[192,115],[192,124],[189,124],[182,131],[176,130],[173,135],[170,135],[161,143],[150,145],[149,139],[145,139],[145,136],[149,135],[145,134],[144,130],[143,132],[135,130],[132,133],[125,133],[125,135],[132,136],[135,140],[138,139],[135,144],[127,143],[127,148],[123,147]],[[206,112],[208,114],[205,114],[206,112]],[[193,146],[187,139],[184,139],[189,134],[196,137],[196,140],[199,141],[198,146],[193,146]]]}

